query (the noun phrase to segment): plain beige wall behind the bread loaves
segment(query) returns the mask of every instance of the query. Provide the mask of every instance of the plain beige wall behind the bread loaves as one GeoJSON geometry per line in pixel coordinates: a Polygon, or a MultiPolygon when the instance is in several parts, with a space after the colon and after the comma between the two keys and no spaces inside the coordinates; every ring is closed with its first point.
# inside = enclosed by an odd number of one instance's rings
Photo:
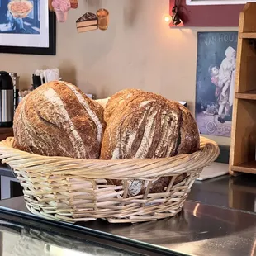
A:
{"type": "MultiPolygon", "coordinates": [[[[21,75],[31,86],[35,69],[59,67],[65,80],[84,92],[107,97],[122,88],[142,88],[173,100],[195,102],[197,31],[237,28],[170,29],[168,0],[80,0],[78,10],[57,26],[57,55],[0,55],[0,69],[21,75]],[[99,7],[110,11],[107,31],[78,34],[75,21],[99,7]]],[[[216,137],[221,144],[230,140],[216,137]]]]}

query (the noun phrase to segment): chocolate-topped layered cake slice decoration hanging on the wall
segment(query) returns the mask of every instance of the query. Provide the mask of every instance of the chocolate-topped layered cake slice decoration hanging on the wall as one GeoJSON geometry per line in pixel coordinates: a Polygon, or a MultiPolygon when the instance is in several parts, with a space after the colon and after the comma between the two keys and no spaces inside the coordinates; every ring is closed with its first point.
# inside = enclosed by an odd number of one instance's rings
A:
{"type": "Polygon", "coordinates": [[[82,17],[76,21],[78,33],[95,31],[98,28],[98,19],[96,14],[86,12],[82,17]]]}

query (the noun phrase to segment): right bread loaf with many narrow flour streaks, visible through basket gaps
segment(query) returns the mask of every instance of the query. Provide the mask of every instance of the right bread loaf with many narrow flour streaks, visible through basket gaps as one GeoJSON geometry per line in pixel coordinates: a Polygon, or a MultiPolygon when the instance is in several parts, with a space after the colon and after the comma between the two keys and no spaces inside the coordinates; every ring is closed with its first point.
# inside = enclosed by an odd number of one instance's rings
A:
{"type": "MultiPolygon", "coordinates": [[[[101,159],[165,158],[191,154],[200,146],[191,112],[154,93],[135,89],[117,92],[107,102],[104,116],[107,127],[101,159]]],[[[186,177],[183,173],[175,183],[186,177]]],[[[149,192],[164,192],[169,182],[168,177],[155,179],[149,192]]],[[[121,185],[116,180],[109,183],[121,185]]],[[[144,193],[147,185],[139,180],[129,181],[128,196],[144,193]]]]}

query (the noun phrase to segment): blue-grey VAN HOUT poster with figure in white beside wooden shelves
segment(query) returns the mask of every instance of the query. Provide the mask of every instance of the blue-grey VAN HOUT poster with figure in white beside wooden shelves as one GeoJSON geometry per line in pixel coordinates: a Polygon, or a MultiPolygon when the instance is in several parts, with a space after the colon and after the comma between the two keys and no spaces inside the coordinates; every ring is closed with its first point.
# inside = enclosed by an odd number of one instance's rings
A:
{"type": "Polygon", "coordinates": [[[238,32],[198,32],[196,120],[204,135],[230,137],[238,32]]]}

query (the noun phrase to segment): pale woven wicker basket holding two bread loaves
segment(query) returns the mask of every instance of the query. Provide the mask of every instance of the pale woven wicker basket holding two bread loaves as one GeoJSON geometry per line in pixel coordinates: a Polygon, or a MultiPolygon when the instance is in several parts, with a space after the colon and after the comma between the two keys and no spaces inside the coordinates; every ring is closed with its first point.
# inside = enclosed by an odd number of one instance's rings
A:
{"type": "Polygon", "coordinates": [[[201,149],[165,159],[84,160],[47,157],[12,148],[13,138],[0,142],[0,159],[13,168],[24,188],[29,211],[69,222],[102,218],[140,222],[175,216],[206,165],[219,154],[214,141],[201,137],[201,149]],[[178,175],[187,177],[175,183],[178,175]],[[149,193],[156,178],[170,176],[164,192],[149,193]],[[122,186],[107,179],[122,180],[122,186]],[[128,181],[148,183],[145,193],[128,197],[128,181]]]}

